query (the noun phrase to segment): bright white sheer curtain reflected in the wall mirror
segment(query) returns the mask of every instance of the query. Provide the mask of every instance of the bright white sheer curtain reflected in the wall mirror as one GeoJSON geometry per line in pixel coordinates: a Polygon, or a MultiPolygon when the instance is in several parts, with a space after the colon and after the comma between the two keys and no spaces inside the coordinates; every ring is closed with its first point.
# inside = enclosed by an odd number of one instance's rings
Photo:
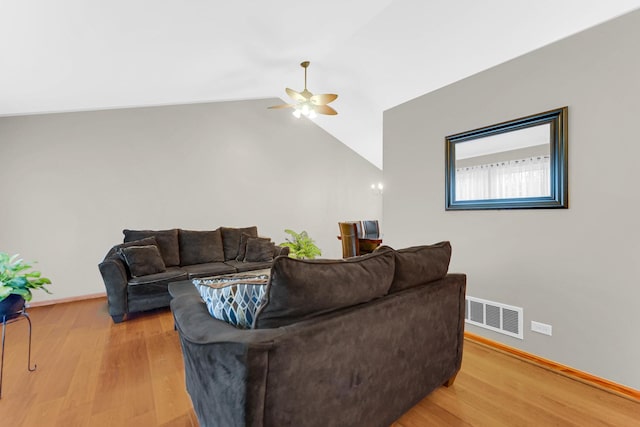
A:
{"type": "Polygon", "coordinates": [[[547,197],[550,192],[548,155],[456,169],[456,200],[547,197]]]}

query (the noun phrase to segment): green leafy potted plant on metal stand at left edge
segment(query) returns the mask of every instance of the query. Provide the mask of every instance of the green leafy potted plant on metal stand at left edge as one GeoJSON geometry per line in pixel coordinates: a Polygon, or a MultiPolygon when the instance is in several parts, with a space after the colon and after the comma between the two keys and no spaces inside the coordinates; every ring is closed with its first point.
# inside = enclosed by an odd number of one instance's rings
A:
{"type": "Polygon", "coordinates": [[[31,270],[31,264],[18,257],[0,252],[0,318],[22,310],[25,301],[31,301],[32,289],[51,293],[45,287],[51,280],[31,270]]]}

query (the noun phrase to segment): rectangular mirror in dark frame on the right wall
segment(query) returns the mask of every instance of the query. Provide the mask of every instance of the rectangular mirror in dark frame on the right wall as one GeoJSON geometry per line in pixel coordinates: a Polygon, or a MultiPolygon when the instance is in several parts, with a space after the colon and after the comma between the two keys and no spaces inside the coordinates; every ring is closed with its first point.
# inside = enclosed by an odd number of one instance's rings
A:
{"type": "Polygon", "coordinates": [[[567,110],[447,136],[445,209],[568,208],[567,110]]]}

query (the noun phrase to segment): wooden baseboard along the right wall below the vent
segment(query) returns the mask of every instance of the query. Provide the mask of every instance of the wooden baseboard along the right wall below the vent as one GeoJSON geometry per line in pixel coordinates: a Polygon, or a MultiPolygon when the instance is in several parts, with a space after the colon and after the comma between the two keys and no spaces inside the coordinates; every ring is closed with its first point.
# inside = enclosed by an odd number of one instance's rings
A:
{"type": "Polygon", "coordinates": [[[640,390],[636,390],[631,387],[624,386],[622,384],[614,383],[613,381],[606,380],[604,378],[591,375],[587,372],[574,369],[570,366],[562,365],[554,362],[553,360],[545,359],[543,357],[536,356],[535,354],[527,353],[514,347],[509,347],[497,341],[490,340],[488,338],[476,335],[471,332],[465,332],[466,339],[476,342],[478,344],[485,345],[492,349],[501,351],[503,353],[510,354],[524,361],[534,363],[543,368],[549,369],[558,374],[564,375],[571,379],[589,384],[591,386],[606,390],[610,393],[617,394],[622,397],[630,398],[635,401],[640,401],[640,390]]]}

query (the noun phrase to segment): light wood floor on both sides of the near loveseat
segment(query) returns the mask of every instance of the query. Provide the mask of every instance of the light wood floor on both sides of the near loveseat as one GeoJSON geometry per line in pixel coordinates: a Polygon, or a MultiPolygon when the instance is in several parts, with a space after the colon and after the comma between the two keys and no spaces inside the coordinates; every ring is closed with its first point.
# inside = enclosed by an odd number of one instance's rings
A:
{"type": "MultiPolygon", "coordinates": [[[[198,425],[168,309],[119,325],[103,298],[29,313],[38,368],[27,371],[27,322],[8,325],[0,425],[198,425]]],[[[455,384],[393,424],[424,426],[631,427],[640,403],[466,341],[455,384]]]]}

